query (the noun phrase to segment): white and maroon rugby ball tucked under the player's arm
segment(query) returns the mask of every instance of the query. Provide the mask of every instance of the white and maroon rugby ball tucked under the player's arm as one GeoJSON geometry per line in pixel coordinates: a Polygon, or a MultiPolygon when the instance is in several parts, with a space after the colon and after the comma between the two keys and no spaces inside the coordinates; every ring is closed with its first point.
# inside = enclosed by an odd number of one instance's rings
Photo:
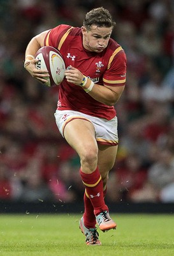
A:
{"type": "Polygon", "coordinates": [[[47,69],[49,77],[46,77],[47,86],[59,85],[64,79],[65,63],[61,53],[51,46],[41,47],[35,55],[39,61],[36,63],[36,68],[47,69]]]}

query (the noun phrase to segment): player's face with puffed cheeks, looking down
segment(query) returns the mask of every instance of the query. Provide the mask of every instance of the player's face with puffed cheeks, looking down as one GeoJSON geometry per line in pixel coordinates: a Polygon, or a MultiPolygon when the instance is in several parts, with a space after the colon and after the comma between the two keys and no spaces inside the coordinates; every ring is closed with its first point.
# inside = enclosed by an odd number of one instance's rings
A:
{"type": "Polygon", "coordinates": [[[108,45],[112,28],[91,26],[91,30],[82,27],[83,47],[91,52],[102,52],[108,45]]]}

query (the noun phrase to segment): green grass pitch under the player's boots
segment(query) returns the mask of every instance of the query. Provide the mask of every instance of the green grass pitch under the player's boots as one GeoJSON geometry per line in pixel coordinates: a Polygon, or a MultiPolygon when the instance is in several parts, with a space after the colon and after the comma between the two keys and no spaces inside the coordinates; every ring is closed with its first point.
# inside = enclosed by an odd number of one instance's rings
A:
{"type": "Polygon", "coordinates": [[[117,230],[101,232],[102,246],[87,246],[80,215],[0,216],[1,256],[169,256],[174,255],[174,216],[111,214],[117,230]]]}

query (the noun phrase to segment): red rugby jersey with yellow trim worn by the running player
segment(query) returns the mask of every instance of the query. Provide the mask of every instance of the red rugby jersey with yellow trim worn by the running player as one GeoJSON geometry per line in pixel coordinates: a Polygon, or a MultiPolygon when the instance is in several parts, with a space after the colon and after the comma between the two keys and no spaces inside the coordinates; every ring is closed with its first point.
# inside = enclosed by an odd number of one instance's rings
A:
{"type": "MultiPolygon", "coordinates": [[[[112,38],[103,52],[90,52],[82,45],[81,28],[59,25],[48,31],[45,45],[55,47],[61,52],[66,68],[69,65],[78,68],[94,83],[123,86],[126,82],[126,54],[112,38]]],[[[116,115],[113,106],[98,102],[80,86],[68,83],[66,79],[59,85],[57,109],[71,109],[107,120],[116,115]]]]}

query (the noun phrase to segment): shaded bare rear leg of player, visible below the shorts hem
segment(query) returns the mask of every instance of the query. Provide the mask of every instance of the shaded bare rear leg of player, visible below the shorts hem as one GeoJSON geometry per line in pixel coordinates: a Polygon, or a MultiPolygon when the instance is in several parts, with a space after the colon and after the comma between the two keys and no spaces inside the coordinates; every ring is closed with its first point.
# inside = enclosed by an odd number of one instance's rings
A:
{"type": "Polygon", "coordinates": [[[101,177],[106,177],[115,163],[118,146],[98,145],[98,167],[101,177]]]}

